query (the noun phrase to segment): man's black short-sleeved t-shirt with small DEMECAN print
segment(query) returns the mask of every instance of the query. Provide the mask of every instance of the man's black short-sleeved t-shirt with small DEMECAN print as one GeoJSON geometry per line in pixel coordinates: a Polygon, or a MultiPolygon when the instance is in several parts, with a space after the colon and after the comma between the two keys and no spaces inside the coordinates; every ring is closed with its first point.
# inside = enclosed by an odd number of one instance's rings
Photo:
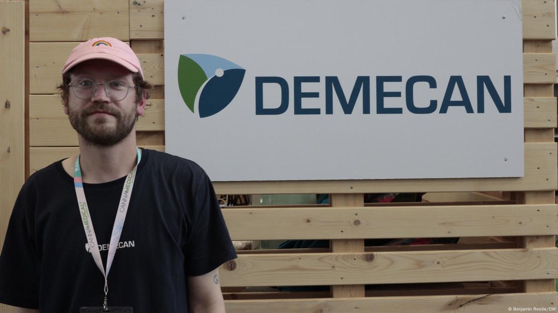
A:
{"type": "MultiPolygon", "coordinates": [[[[110,306],[187,312],[186,276],[236,257],[211,182],[186,159],[142,149],[122,236],[108,275],[110,306]]],[[[123,177],[84,183],[104,265],[123,177]]],[[[73,178],[61,160],[23,185],[0,256],[0,302],[41,313],[103,304],[104,277],[86,245],[73,178]]]]}

